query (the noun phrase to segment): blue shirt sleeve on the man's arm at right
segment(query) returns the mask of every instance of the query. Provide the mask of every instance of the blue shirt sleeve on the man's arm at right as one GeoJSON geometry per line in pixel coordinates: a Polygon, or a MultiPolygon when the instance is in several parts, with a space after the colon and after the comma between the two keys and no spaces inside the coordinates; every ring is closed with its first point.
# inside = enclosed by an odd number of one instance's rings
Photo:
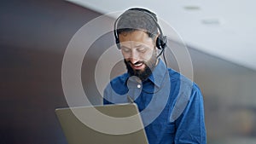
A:
{"type": "Polygon", "coordinates": [[[194,85],[189,103],[175,124],[177,129],[175,143],[207,143],[203,97],[197,86],[194,85]]]}

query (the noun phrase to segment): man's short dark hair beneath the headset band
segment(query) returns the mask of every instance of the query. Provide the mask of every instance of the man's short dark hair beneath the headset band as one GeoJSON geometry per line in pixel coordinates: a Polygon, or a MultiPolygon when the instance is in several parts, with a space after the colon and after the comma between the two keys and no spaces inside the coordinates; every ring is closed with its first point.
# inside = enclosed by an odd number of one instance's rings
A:
{"type": "Polygon", "coordinates": [[[117,34],[122,32],[145,31],[148,37],[158,34],[157,17],[147,9],[128,9],[117,20],[117,34]]]}

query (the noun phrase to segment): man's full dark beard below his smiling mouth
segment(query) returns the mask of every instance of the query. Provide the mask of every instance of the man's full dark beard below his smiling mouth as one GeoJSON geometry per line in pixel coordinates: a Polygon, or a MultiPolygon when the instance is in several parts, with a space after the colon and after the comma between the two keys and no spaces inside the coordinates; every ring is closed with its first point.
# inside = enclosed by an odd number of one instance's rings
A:
{"type": "Polygon", "coordinates": [[[131,61],[130,60],[125,60],[125,66],[127,68],[127,71],[130,76],[136,76],[140,78],[142,81],[146,80],[154,71],[154,68],[156,66],[157,62],[157,52],[154,50],[151,58],[148,61],[137,61],[137,63],[143,63],[145,65],[143,70],[134,70],[131,67],[131,61]]]}

